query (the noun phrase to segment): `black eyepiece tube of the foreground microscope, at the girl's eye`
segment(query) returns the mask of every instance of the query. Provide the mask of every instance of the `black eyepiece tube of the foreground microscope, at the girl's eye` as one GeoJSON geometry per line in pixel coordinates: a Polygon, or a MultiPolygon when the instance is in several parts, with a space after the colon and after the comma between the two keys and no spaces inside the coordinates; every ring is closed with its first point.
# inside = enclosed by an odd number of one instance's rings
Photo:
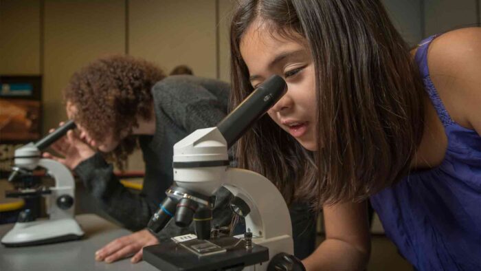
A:
{"type": "Polygon", "coordinates": [[[273,75],[243,100],[217,125],[231,147],[256,120],[264,115],[287,91],[282,77],[273,75]]]}

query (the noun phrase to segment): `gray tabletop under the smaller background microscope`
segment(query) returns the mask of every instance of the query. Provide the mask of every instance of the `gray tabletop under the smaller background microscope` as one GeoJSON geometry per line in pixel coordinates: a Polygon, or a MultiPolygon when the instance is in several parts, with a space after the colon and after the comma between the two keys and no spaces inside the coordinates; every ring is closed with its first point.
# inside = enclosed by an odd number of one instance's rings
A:
{"type": "MultiPolygon", "coordinates": [[[[131,232],[97,215],[78,215],[76,219],[85,232],[79,241],[23,248],[0,245],[0,270],[157,270],[145,261],[131,263],[129,258],[109,264],[96,261],[99,248],[131,232]]],[[[0,225],[0,236],[13,225],[0,225]]]]}

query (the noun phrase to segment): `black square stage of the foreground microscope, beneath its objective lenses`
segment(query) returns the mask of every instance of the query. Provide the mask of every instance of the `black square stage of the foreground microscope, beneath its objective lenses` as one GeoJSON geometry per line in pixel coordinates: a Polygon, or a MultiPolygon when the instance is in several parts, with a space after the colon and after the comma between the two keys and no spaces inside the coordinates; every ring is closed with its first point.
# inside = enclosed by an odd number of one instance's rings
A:
{"type": "MultiPolygon", "coordinates": [[[[201,240],[197,241],[197,245],[201,240]]],[[[194,242],[192,241],[192,242],[194,242]]],[[[221,252],[205,256],[188,249],[188,242],[175,243],[167,241],[155,246],[144,248],[144,261],[162,271],[207,271],[207,270],[242,270],[249,265],[269,261],[269,249],[255,243],[245,248],[245,242],[234,237],[220,237],[209,240],[216,246],[223,248],[221,252]]]]}

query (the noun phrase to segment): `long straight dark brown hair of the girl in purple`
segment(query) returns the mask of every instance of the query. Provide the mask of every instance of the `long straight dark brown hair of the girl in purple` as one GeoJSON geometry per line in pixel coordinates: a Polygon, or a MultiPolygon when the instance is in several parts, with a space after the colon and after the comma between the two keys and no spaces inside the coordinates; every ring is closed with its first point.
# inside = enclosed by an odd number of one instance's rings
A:
{"type": "Polygon", "coordinates": [[[266,115],[238,141],[239,166],[272,180],[287,202],[315,207],[361,201],[405,175],[423,134],[423,83],[381,2],[239,1],[230,27],[231,107],[252,91],[240,43],[254,20],[288,39],[304,37],[315,65],[320,149],[304,150],[266,115]]]}

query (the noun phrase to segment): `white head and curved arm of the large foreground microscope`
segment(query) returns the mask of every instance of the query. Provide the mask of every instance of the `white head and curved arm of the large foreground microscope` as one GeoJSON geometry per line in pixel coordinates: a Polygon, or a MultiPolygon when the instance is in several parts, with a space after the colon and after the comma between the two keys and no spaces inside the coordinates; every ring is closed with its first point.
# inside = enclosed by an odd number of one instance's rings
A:
{"type": "MultiPolygon", "coordinates": [[[[227,143],[216,127],[200,129],[177,142],[174,163],[228,160],[227,143]]],[[[293,254],[291,216],[278,188],[266,177],[228,166],[174,169],[179,187],[203,195],[214,195],[224,186],[250,208],[245,216],[246,232],[252,242],[269,248],[269,260],[280,252],[293,254]]],[[[267,270],[267,264],[251,265],[244,270],[267,270]]]]}

